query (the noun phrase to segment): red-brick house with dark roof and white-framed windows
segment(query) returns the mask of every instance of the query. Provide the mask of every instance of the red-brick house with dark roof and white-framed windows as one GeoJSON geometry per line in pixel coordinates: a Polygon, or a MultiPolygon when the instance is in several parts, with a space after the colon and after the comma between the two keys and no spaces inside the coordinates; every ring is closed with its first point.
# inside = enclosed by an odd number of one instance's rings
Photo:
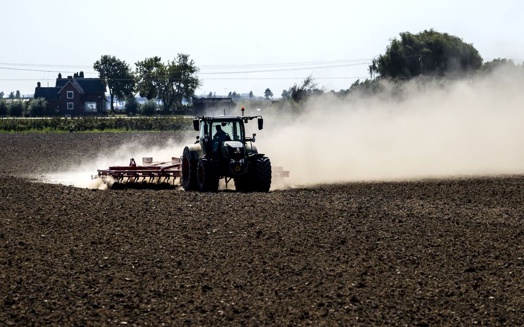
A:
{"type": "Polygon", "coordinates": [[[60,116],[89,116],[107,113],[106,88],[100,78],[77,78],[58,74],[54,87],[35,88],[35,99],[45,98],[49,110],[60,116]]]}

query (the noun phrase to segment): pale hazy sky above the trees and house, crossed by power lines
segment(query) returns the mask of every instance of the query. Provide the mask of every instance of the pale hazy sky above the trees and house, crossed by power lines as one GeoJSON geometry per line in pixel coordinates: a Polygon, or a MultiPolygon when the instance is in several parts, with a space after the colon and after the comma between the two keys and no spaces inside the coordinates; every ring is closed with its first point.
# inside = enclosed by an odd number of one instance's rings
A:
{"type": "Polygon", "coordinates": [[[198,94],[263,95],[269,87],[279,97],[309,74],[338,91],[368,76],[370,59],[399,32],[430,28],[473,43],[484,59],[524,59],[521,1],[4,0],[1,10],[6,94],[34,93],[39,81],[54,86],[59,71],[96,77],[102,54],[133,64],[177,53],[201,67],[198,94]]]}

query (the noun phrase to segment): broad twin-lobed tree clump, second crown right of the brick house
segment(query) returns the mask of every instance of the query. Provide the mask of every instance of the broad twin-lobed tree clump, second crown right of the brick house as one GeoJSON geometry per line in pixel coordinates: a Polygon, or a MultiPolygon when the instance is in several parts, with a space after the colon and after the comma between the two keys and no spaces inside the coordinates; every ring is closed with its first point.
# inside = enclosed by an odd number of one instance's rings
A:
{"type": "Polygon", "coordinates": [[[198,68],[188,54],[179,53],[173,61],[162,63],[160,57],[146,58],[136,63],[138,84],[143,94],[157,95],[163,110],[169,112],[183,99],[190,100],[200,85],[198,68]]]}

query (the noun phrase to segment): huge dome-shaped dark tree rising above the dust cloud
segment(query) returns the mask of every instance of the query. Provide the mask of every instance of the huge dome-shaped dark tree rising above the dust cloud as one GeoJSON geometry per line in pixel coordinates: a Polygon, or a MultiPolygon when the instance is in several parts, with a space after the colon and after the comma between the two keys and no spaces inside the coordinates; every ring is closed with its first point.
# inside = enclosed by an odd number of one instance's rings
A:
{"type": "Polygon", "coordinates": [[[369,72],[399,78],[460,76],[476,71],[481,65],[481,55],[473,44],[431,29],[417,34],[400,33],[400,40],[392,39],[386,53],[372,61],[369,72]]]}

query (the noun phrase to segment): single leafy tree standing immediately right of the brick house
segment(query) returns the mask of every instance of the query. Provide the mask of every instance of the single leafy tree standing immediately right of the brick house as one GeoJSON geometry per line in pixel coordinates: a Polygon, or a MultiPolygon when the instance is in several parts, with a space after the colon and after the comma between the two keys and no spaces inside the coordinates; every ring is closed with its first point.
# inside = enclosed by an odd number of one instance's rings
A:
{"type": "Polygon", "coordinates": [[[114,99],[132,97],[135,91],[135,79],[129,65],[114,56],[104,54],[97,60],[93,69],[100,74],[100,78],[109,89],[111,96],[111,112],[114,112],[114,99]]]}

